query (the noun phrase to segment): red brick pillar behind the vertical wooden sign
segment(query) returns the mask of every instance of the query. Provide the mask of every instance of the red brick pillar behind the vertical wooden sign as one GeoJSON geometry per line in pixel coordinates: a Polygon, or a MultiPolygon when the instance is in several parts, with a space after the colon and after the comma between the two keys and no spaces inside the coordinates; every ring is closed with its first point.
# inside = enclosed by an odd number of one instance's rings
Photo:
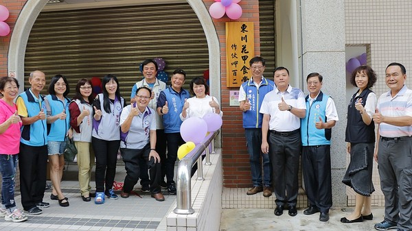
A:
{"type": "MultiPolygon", "coordinates": [[[[213,0],[205,0],[205,5],[214,3],[213,0]]],[[[254,22],[255,27],[255,56],[260,55],[260,27],[259,27],[259,1],[240,1],[242,17],[236,21],[254,22]]],[[[239,88],[226,87],[226,32],[225,22],[231,21],[227,16],[221,19],[213,19],[218,38],[220,40],[221,59],[221,106],[223,111],[222,125],[222,163],[223,186],[229,188],[249,187],[251,183],[251,169],[249,154],[246,148],[246,138],[242,127],[242,112],[238,106],[229,106],[229,90],[239,88]]]]}

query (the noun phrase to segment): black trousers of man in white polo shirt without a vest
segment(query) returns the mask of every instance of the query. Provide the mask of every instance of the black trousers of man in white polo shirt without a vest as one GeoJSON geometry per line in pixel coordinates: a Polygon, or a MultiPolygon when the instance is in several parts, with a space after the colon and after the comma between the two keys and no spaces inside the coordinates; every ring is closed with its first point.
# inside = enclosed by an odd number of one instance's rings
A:
{"type": "Polygon", "coordinates": [[[273,189],[278,206],[296,206],[299,191],[297,173],[299,171],[299,154],[301,136],[295,132],[288,136],[270,132],[269,154],[272,162],[273,189]]]}

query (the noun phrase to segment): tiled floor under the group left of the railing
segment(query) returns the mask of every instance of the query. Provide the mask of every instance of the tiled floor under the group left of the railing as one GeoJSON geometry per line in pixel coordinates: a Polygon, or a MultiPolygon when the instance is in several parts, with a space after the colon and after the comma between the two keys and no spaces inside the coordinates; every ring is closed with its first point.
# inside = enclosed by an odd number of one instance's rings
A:
{"type": "MultiPolygon", "coordinates": [[[[0,230],[166,230],[165,215],[172,209],[176,201],[175,195],[168,195],[163,189],[164,202],[157,202],[150,193],[142,193],[140,184],[135,186],[138,195],[130,195],[127,199],[107,199],[104,204],[83,202],[76,181],[77,167],[70,165],[62,181],[62,190],[69,198],[69,207],[61,207],[58,201],[51,200],[51,189],[45,192],[44,202],[49,202],[49,208],[43,208],[41,215],[30,216],[27,221],[13,223],[0,219],[0,230]],[[74,180],[73,180],[74,179],[74,180]]],[[[115,181],[123,182],[124,166],[117,166],[115,181]]],[[[94,181],[91,182],[94,191],[94,181]]],[[[16,192],[16,205],[21,207],[19,191],[16,192]]]]}

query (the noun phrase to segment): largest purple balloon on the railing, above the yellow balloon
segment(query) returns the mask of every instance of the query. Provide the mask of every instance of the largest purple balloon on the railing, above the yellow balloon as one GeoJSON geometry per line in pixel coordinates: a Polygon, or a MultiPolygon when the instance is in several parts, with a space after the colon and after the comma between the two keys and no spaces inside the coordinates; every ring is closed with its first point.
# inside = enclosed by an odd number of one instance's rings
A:
{"type": "Polygon", "coordinates": [[[181,125],[183,141],[192,141],[196,145],[202,143],[207,133],[207,123],[200,117],[190,117],[181,125]]]}

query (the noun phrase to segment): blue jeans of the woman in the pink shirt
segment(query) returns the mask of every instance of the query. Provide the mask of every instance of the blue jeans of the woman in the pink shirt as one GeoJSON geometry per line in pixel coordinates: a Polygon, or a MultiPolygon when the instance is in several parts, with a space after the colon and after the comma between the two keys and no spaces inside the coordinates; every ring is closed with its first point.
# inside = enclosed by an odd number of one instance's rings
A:
{"type": "Polygon", "coordinates": [[[16,177],[16,167],[19,155],[0,154],[0,173],[3,183],[1,184],[1,204],[5,208],[16,207],[14,202],[14,178],[16,177]]]}

